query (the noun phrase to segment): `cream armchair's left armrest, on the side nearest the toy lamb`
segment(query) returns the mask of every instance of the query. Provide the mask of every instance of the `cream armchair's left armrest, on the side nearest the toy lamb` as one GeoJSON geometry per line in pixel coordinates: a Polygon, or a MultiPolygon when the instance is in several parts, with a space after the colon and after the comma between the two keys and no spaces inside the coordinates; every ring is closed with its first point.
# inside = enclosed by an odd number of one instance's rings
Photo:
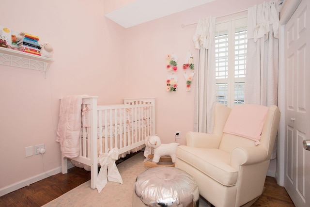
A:
{"type": "Polygon", "coordinates": [[[189,131],[186,133],[186,145],[197,148],[218,148],[221,137],[215,134],[189,131]]]}

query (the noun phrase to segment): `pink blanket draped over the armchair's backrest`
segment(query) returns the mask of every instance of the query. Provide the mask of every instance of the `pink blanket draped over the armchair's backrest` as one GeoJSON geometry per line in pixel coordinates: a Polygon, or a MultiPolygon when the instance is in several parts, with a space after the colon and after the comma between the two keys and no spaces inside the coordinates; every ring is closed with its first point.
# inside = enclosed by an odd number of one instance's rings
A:
{"type": "Polygon", "coordinates": [[[236,105],[226,121],[223,132],[242,136],[259,144],[267,111],[268,107],[261,105],[236,105]]]}

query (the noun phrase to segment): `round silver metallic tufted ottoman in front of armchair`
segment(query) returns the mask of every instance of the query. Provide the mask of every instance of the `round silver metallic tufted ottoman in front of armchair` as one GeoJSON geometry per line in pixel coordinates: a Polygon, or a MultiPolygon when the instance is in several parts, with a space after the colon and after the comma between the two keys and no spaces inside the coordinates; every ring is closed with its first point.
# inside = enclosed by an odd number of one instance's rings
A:
{"type": "Polygon", "coordinates": [[[198,185],[174,167],[154,167],[138,175],[132,207],[198,207],[198,185]]]}

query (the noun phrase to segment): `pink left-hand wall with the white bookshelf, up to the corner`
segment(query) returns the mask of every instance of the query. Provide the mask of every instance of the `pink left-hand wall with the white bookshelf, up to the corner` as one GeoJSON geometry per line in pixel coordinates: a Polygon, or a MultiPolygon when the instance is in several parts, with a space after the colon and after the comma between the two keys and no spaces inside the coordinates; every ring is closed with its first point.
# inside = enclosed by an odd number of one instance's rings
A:
{"type": "Polygon", "coordinates": [[[60,166],[60,98],[88,94],[111,104],[124,97],[124,28],[104,17],[102,0],[85,2],[1,0],[0,24],[50,42],[55,62],[47,79],[0,65],[0,189],[44,173],[41,155],[25,157],[27,146],[45,143],[46,170],[60,166]]]}

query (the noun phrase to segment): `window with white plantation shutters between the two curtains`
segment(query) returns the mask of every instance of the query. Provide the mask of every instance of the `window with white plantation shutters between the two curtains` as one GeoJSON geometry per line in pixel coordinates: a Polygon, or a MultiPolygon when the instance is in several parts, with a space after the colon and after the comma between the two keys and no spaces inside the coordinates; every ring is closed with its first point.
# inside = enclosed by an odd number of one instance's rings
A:
{"type": "Polygon", "coordinates": [[[244,103],[247,57],[247,17],[216,24],[217,103],[244,103]]]}

